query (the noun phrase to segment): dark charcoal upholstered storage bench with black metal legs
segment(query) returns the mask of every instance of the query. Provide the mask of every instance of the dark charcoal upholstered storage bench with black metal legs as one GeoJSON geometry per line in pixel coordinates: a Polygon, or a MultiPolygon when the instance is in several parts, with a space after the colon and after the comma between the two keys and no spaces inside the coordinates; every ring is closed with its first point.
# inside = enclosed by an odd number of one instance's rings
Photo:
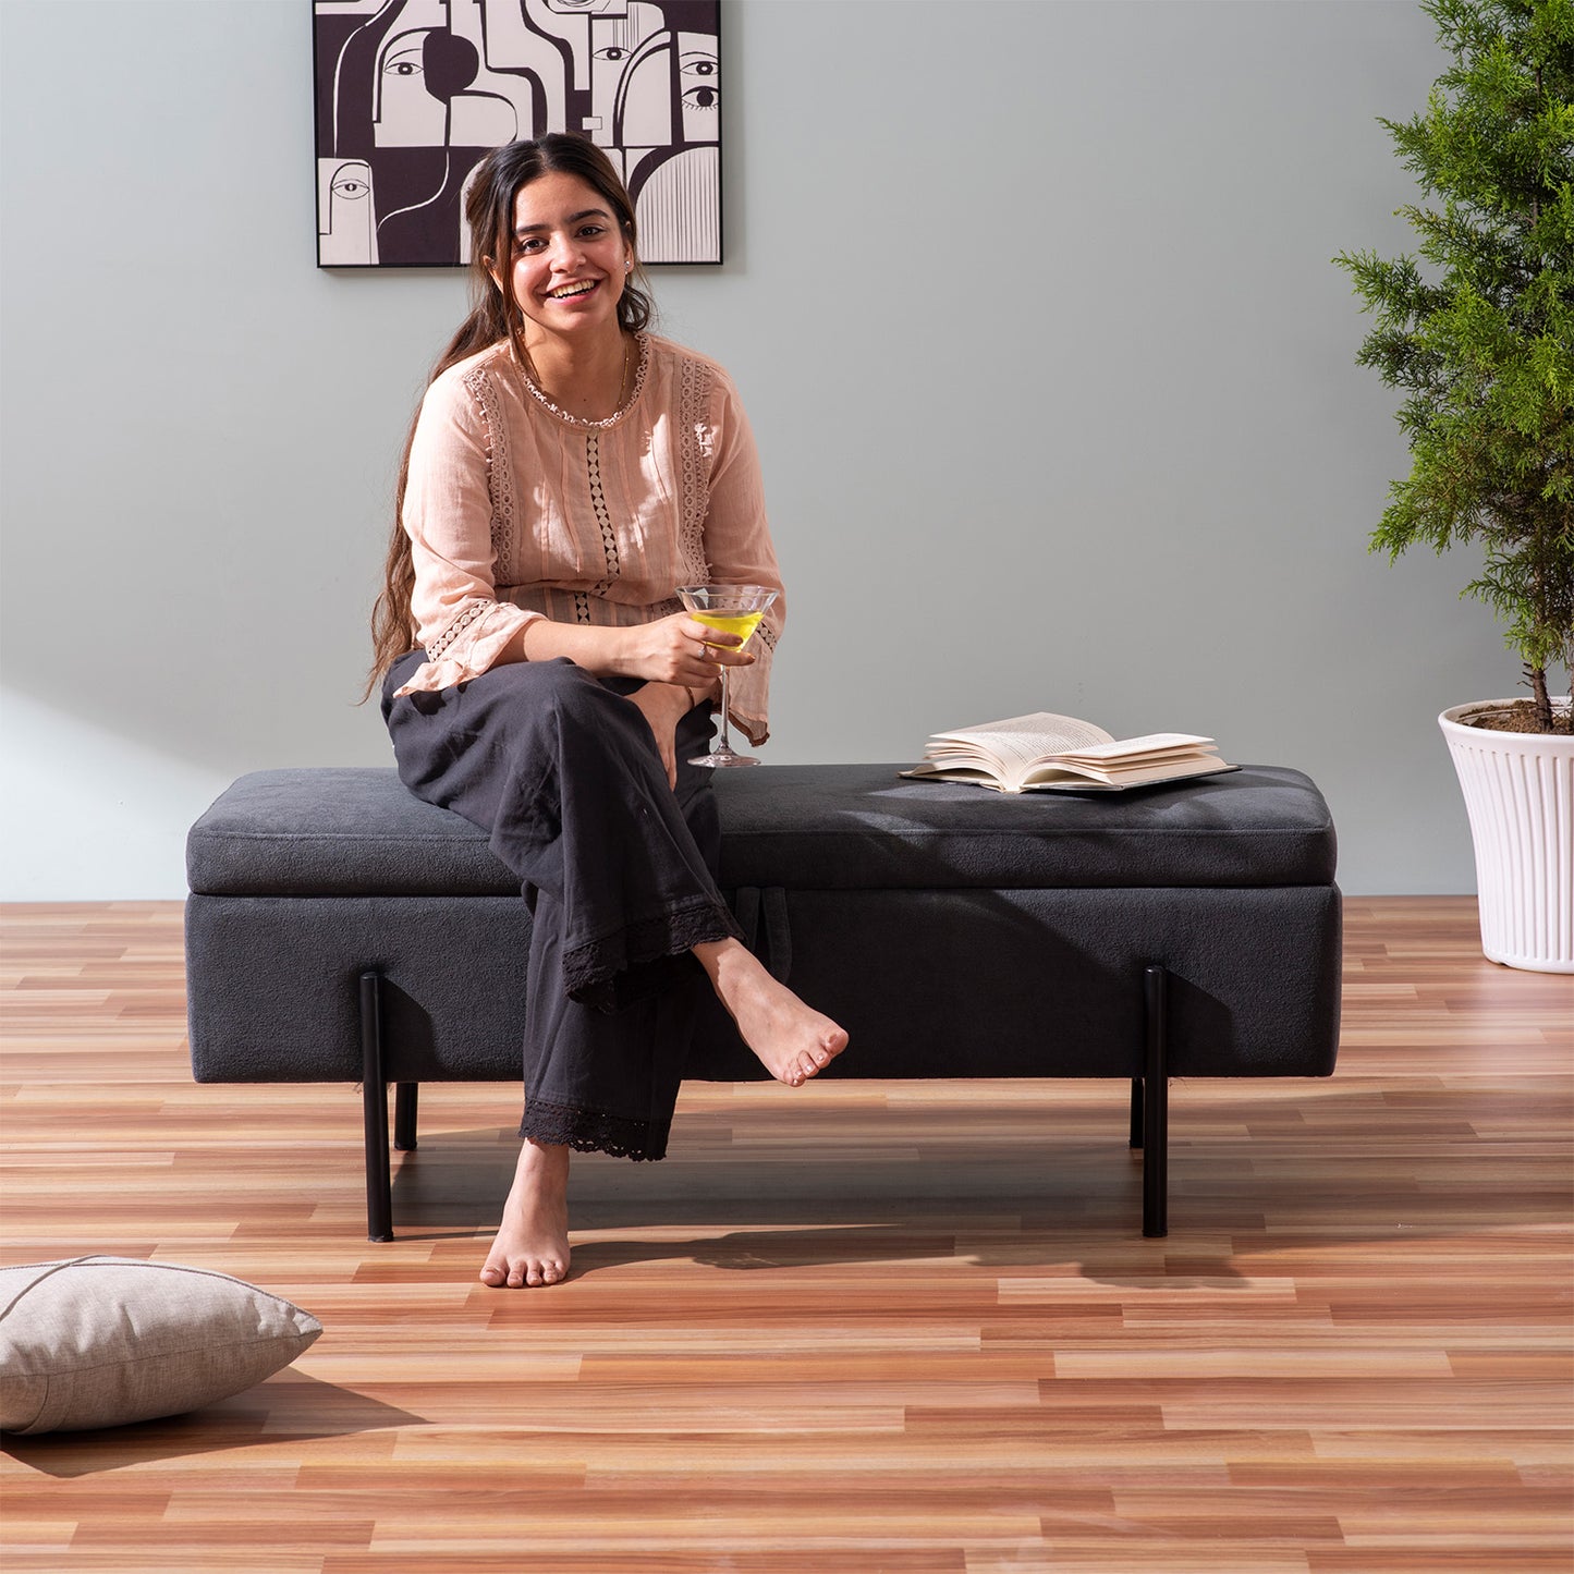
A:
{"type": "MultiPolygon", "coordinates": [[[[894,765],[724,771],[721,883],[778,977],[852,1034],[826,1075],[1132,1081],[1143,1232],[1166,1232],[1169,1077],[1325,1077],[1339,1023],[1327,804],[1248,767],[999,796],[894,765]]],[[[483,831],[392,770],[242,776],[187,841],[200,1083],[360,1081],[392,1239],[422,1081],[516,1081],[530,918],[483,831]]],[[[763,1077],[716,1006],[689,1075],[763,1077]]]]}

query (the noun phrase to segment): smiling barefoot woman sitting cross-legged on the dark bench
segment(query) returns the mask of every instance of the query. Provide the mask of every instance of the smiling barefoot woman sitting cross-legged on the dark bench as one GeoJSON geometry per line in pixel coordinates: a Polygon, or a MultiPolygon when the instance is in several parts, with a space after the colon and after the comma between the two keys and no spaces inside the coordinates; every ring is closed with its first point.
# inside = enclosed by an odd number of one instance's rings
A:
{"type": "Polygon", "coordinates": [[[664,1155],[707,977],[784,1083],[847,1034],[741,943],[689,763],[722,666],[763,741],[782,622],[778,597],[756,656],[677,598],[781,587],[738,395],[645,332],[633,205],[590,142],[499,148],[466,217],[477,304],[406,444],[373,682],[401,781],[485,826],[530,905],[524,1141],[480,1273],[518,1288],[568,1272],[571,1149],[664,1155]]]}

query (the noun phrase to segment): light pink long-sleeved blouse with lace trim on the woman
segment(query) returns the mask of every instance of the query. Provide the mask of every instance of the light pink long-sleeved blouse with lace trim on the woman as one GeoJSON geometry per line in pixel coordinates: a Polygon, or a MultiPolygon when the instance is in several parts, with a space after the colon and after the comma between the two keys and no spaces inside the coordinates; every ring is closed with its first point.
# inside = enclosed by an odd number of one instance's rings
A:
{"type": "MultiPolygon", "coordinates": [[[[759,455],[727,373],[639,335],[626,403],[606,422],[559,411],[512,346],[449,367],[420,406],[405,488],[412,612],[427,661],[398,693],[491,667],[527,623],[626,626],[683,609],[677,587],[781,589],[759,455]]],[[[778,597],[730,674],[732,718],[768,732],[778,597]]]]}

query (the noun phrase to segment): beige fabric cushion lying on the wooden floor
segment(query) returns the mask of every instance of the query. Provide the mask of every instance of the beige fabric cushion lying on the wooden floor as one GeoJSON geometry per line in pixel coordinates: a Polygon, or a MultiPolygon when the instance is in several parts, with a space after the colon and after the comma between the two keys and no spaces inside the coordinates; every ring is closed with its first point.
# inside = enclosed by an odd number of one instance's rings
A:
{"type": "Polygon", "coordinates": [[[0,1269],[0,1431],[179,1415],[288,1366],[323,1332],[227,1273],[87,1256],[0,1269]]]}

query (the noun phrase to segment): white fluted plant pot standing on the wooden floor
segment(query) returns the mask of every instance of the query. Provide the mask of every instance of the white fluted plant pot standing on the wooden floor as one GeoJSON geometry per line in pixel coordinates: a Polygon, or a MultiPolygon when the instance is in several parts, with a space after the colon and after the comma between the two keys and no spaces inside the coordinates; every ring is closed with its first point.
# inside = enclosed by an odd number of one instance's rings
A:
{"type": "Polygon", "coordinates": [[[1481,949],[1511,968],[1574,973],[1574,737],[1462,726],[1513,704],[1437,718],[1470,815],[1481,949]]]}

